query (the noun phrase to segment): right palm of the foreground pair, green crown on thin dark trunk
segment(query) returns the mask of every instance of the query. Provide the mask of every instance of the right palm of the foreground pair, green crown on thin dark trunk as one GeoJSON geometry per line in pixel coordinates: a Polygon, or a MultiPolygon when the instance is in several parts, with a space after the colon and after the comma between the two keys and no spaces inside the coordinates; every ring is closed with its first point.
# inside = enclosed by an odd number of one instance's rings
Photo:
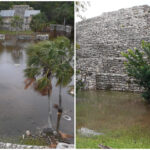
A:
{"type": "Polygon", "coordinates": [[[56,40],[58,61],[56,67],[56,86],[59,86],[59,105],[58,105],[58,116],[56,131],[59,130],[59,122],[62,115],[62,87],[67,86],[73,76],[73,68],[71,61],[73,57],[73,48],[70,45],[70,41],[64,37],[58,37],[56,40]]]}

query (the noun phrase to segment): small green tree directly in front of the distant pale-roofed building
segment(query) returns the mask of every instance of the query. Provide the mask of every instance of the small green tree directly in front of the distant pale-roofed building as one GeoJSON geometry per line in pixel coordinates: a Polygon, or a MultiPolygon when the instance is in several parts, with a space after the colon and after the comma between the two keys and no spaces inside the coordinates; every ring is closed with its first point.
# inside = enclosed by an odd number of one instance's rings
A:
{"type": "Polygon", "coordinates": [[[22,29],[23,19],[20,16],[14,16],[11,20],[11,26],[15,28],[16,31],[22,29]]]}

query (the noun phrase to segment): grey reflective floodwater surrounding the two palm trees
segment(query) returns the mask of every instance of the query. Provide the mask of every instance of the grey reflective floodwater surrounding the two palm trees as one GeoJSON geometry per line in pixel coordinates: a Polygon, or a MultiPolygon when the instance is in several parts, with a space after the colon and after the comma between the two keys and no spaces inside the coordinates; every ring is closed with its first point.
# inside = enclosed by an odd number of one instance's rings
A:
{"type": "MultiPolygon", "coordinates": [[[[0,138],[14,138],[22,135],[26,130],[36,133],[39,129],[48,126],[48,97],[41,96],[32,87],[24,89],[25,47],[29,44],[15,39],[0,41],[0,138]]],[[[58,104],[59,89],[55,87],[55,80],[52,82],[50,99],[54,105],[58,104]]],[[[74,100],[73,96],[68,94],[68,88],[62,89],[62,108],[60,131],[73,135],[74,100]],[[71,120],[67,121],[64,115],[69,115],[71,120]]],[[[52,123],[56,127],[55,108],[52,108],[52,123]]]]}

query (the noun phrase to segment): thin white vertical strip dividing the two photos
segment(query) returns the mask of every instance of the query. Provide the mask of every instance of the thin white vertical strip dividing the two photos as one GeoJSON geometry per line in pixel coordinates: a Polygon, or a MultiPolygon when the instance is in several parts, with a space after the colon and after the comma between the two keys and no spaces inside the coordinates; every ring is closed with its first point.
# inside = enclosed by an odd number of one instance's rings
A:
{"type": "Polygon", "coordinates": [[[76,149],[76,1],[74,1],[74,148],[76,149]]]}

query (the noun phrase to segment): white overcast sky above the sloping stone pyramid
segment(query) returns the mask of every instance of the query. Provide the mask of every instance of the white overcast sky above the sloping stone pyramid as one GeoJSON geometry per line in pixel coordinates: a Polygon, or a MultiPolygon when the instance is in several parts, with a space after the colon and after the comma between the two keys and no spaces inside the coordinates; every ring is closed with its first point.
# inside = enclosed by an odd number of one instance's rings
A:
{"type": "MultiPolygon", "coordinates": [[[[103,12],[129,8],[139,5],[150,5],[150,0],[91,0],[87,11],[82,13],[86,18],[92,18],[101,15],[103,12]]],[[[80,21],[77,17],[76,21],[80,21]]]]}

